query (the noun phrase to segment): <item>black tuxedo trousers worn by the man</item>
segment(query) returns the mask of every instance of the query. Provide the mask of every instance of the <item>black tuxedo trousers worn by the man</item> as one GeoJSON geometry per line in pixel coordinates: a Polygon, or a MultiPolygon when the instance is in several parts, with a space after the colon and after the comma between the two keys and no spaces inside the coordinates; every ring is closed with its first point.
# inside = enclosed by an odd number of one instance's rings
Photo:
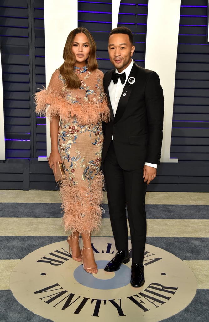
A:
{"type": "Polygon", "coordinates": [[[103,163],[103,171],[116,249],[118,251],[128,250],[127,207],[132,262],[142,263],[146,243],[146,183],[144,183],[143,168],[132,171],[123,170],[118,164],[113,141],[111,141],[103,163]]]}

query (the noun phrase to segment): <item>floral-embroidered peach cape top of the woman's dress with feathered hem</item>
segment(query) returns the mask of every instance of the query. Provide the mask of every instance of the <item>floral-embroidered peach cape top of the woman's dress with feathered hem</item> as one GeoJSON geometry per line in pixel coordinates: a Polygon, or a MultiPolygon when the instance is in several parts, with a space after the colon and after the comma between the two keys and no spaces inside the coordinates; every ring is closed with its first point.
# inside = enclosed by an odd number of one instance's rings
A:
{"type": "Polygon", "coordinates": [[[68,122],[75,117],[80,124],[97,124],[109,120],[109,108],[103,89],[104,74],[86,66],[75,67],[74,72],[81,81],[80,88],[66,87],[66,81],[57,69],[51,77],[48,88],[35,94],[36,112],[49,119],[59,116],[68,122]]]}

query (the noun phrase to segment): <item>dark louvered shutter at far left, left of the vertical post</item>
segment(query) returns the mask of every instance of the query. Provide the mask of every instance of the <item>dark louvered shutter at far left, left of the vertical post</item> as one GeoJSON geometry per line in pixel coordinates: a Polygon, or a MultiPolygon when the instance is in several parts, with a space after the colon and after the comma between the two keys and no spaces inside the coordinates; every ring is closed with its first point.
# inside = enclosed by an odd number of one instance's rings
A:
{"type": "Polygon", "coordinates": [[[27,0],[1,1],[0,9],[6,158],[30,158],[27,0]]]}

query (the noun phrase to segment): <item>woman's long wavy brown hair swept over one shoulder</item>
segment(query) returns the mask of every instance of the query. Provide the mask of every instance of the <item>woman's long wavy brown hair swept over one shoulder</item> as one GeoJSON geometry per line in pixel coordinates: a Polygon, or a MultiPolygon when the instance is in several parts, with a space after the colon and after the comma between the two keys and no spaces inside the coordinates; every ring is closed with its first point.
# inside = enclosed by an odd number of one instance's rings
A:
{"type": "Polygon", "coordinates": [[[79,88],[81,86],[81,82],[78,76],[74,73],[76,58],[74,53],[72,52],[74,38],[77,33],[84,33],[88,38],[90,53],[89,58],[86,61],[86,66],[90,71],[98,68],[98,63],[96,60],[96,43],[91,36],[91,33],[86,28],[75,28],[69,33],[67,37],[63,51],[64,63],[60,67],[60,74],[65,78],[66,87],[72,89],[79,88]]]}

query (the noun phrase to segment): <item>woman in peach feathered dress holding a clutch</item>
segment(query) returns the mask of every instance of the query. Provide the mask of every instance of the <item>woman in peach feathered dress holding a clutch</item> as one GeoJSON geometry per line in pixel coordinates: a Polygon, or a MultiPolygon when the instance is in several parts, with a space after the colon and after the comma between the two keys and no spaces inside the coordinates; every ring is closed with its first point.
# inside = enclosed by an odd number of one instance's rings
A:
{"type": "Polygon", "coordinates": [[[84,270],[96,274],[90,234],[98,230],[102,215],[101,121],[109,120],[104,75],[98,70],[95,42],[85,28],[76,28],[68,35],[63,58],[48,89],[36,93],[36,112],[50,119],[49,166],[54,165],[56,171],[57,162],[62,162],[65,171],[60,192],[65,231],[71,232],[67,241],[72,258],[83,261],[84,270]]]}

